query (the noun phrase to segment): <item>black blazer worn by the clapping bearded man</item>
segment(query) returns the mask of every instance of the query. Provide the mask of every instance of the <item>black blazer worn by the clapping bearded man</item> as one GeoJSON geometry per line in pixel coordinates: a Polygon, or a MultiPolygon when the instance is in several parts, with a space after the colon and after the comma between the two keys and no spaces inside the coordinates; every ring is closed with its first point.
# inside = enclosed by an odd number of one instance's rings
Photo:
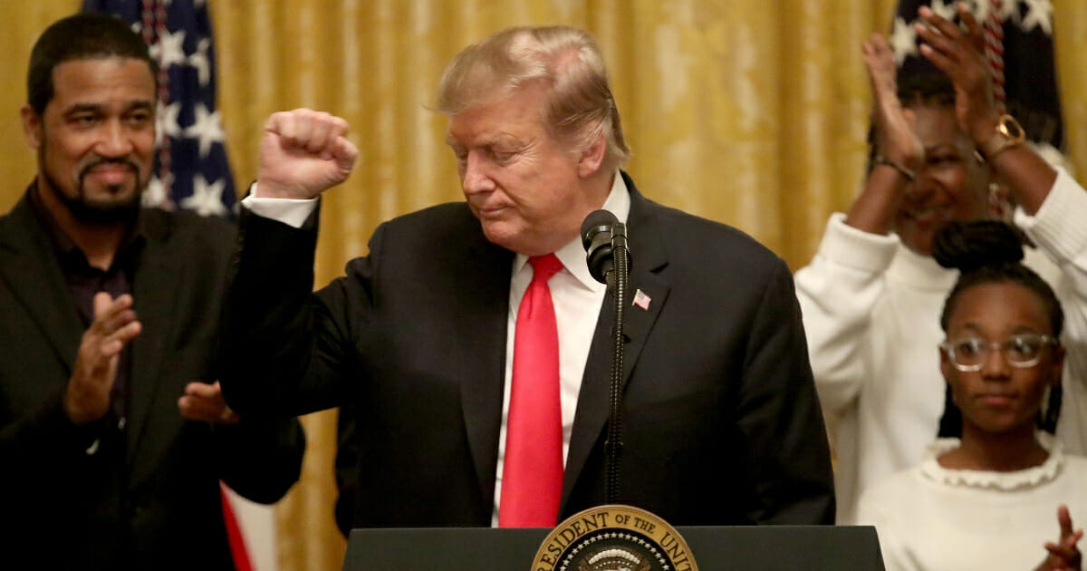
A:
{"type": "Polygon", "coordinates": [[[177,408],[187,383],[217,378],[234,227],[159,210],[139,224],[122,431],[112,413],[83,427],[64,413],[85,327],[28,198],[0,218],[0,568],[234,569],[220,479],[263,502],[298,479],[296,421],[213,429],[177,408]]]}

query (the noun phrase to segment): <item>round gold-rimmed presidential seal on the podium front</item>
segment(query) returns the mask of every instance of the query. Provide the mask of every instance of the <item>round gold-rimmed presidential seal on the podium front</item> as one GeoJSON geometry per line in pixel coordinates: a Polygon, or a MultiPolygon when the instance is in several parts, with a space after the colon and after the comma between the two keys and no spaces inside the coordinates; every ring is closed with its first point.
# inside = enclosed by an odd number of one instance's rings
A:
{"type": "Polygon", "coordinates": [[[587,509],[544,539],[533,571],[698,571],[687,542],[652,513],[632,506],[587,509]]]}

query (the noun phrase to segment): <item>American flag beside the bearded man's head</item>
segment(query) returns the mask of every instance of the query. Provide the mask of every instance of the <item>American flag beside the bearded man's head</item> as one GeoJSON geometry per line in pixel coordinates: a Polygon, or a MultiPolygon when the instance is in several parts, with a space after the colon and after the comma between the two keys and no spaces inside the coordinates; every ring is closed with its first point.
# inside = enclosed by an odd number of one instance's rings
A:
{"type": "Polygon", "coordinates": [[[143,203],[232,215],[236,195],[215,110],[215,48],[207,0],[84,0],[83,10],[132,23],[159,63],[159,145],[143,203]]]}

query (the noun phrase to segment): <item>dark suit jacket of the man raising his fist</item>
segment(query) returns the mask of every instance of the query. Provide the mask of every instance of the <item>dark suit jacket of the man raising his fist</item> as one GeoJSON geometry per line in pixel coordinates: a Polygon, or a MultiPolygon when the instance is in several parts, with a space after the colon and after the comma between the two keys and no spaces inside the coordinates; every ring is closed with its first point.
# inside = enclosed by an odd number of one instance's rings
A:
{"type": "MultiPolygon", "coordinates": [[[[792,277],[739,231],[655,204],[627,221],[619,499],[672,524],[833,523],[834,492],[792,277]]],[[[243,214],[224,394],[242,411],[353,405],[355,526],[489,525],[513,253],[464,203],[383,224],[311,295],[316,232],[243,214]],[[245,375],[251,369],[254,375],[245,375]]],[[[607,296],[566,458],[561,518],[604,498],[614,310],[607,296]]]]}

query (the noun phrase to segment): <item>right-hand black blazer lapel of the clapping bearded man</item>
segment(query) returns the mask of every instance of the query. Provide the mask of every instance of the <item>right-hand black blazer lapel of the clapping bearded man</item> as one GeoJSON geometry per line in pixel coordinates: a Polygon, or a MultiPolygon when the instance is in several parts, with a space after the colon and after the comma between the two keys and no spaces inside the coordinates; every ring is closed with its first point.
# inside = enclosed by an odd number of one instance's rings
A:
{"type": "MultiPolygon", "coordinates": [[[[171,315],[174,314],[173,308],[179,290],[186,287],[186,282],[177,278],[177,268],[184,268],[186,261],[172,256],[167,240],[168,229],[148,227],[145,224],[143,233],[147,243],[140,252],[140,262],[133,278],[134,309],[143,328],[132,343],[132,373],[128,378],[129,462],[135,458],[147,433],[148,417],[155,404],[162,378],[161,367],[166,344],[174,333],[171,315]]],[[[168,402],[173,405],[174,399],[168,399],[168,402]]],[[[171,412],[179,414],[176,407],[171,412]]],[[[133,481],[136,481],[135,467],[133,481]]]]}

